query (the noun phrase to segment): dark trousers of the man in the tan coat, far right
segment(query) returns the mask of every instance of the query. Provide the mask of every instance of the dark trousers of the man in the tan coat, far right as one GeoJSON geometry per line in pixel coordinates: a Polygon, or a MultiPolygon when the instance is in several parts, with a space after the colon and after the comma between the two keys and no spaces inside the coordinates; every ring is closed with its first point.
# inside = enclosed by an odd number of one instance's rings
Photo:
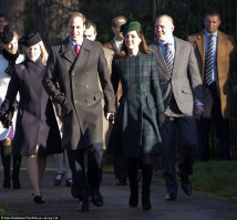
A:
{"type": "MultiPolygon", "coordinates": [[[[212,116],[215,122],[218,135],[219,159],[229,159],[229,132],[228,119],[224,119],[220,109],[220,99],[216,83],[210,84],[208,91],[213,98],[212,116]]],[[[208,160],[208,140],[210,132],[212,118],[202,118],[197,122],[197,138],[198,138],[198,159],[208,160]]]]}

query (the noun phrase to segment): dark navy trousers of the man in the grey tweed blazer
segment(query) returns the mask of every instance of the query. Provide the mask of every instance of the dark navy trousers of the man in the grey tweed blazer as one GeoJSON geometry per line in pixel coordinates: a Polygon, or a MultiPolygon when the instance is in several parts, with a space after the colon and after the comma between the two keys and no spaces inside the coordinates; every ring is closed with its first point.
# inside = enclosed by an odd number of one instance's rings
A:
{"type": "Polygon", "coordinates": [[[162,156],[163,177],[168,193],[177,193],[176,182],[176,144],[179,149],[178,171],[181,176],[193,174],[193,163],[197,146],[196,123],[193,116],[168,117],[159,128],[165,154],[162,156]]]}

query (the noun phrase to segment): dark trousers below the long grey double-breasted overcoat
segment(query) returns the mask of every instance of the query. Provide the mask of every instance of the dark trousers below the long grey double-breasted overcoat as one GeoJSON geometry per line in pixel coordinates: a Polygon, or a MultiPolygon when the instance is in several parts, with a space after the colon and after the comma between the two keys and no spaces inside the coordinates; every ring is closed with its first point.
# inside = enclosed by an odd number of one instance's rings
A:
{"type": "Polygon", "coordinates": [[[85,149],[68,150],[70,168],[72,170],[73,184],[79,199],[89,200],[90,195],[100,191],[102,181],[103,144],[93,144],[86,147],[87,171],[84,167],[85,149]]]}

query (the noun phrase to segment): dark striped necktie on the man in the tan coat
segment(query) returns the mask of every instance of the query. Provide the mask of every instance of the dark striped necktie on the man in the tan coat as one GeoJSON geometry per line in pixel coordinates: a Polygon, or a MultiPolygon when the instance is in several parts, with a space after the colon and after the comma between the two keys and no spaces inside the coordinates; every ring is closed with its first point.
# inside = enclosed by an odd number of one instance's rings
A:
{"type": "Polygon", "coordinates": [[[205,74],[205,83],[207,85],[210,85],[213,83],[213,62],[214,62],[213,49],[214,49],[213,35],[209,35],[209,42],[206,53],[206,74],[205,74]]]}

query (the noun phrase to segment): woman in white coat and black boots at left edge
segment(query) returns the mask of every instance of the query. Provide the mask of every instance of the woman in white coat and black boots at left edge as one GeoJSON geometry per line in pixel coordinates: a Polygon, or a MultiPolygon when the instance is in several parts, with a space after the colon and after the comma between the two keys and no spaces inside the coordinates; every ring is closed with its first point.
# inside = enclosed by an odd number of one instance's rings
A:
{"type": "MultiPolygon", "coordinates": [[[[1,14],[0,14],[1,23],[1,14]]],[[[0,55],[0,105],[2,104],[6,93],[8,91],[8,85],[11,80],[11,71],[16,64],[21,63],[24,56],[19,53],[18,50],[18,34],[16,31],[11,30],[8,25],[4,27],[3,32],[0,33],[0,39],[2,43],[2,54],[0,55]]],[[[14,103],[17,105],[17,102],[14,103]]],[[[16,106],[17,107],[17,106],[16,106]]],[[[9,114],[14,114],[14,107],[9,114]]],[[[11,121],[11,118],[10,118],[11,121]]],[[[12,118],[12,125],[4,128],[1,125],[0,129],[0,148],[1,148],[1,159],[4,170],[3,188],[11,187],[11,178],[13,184],[13,189],[20,189],[21,184],[19,180],[19,171],[21,167],[21,156],[13,156],[13,170],[11,177],[11,145],[16,132],[16,114],[12,118]]]]}

